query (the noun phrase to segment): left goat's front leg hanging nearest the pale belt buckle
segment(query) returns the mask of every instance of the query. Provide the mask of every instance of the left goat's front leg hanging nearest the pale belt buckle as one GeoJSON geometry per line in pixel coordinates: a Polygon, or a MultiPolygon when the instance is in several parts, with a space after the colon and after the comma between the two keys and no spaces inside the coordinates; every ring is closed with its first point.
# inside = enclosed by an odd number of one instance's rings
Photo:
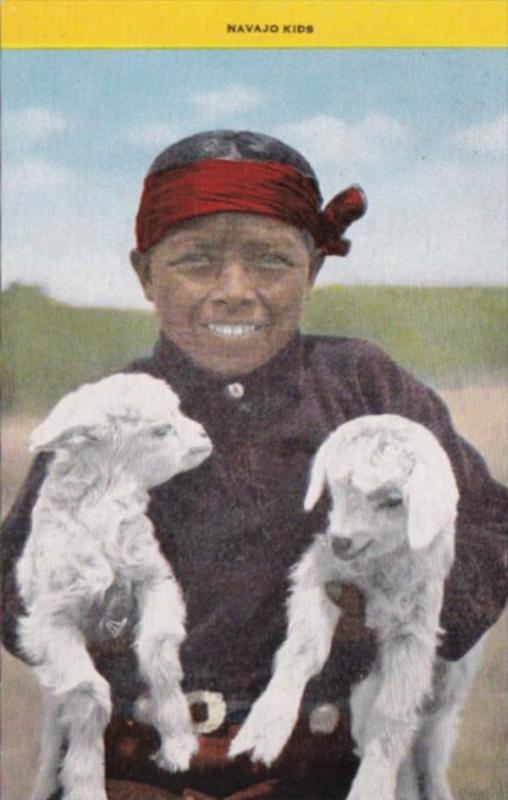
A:
{"type": "Polygon", "coordinates": [[[161,737],[159,767],[186,770],[197,752],[189,706],[181,689],[179,647],[185,638],[185,606],[180,588],[167,571],[138,587],[140,620],[136,652],[150,689],[150,715],[161,737]]]}

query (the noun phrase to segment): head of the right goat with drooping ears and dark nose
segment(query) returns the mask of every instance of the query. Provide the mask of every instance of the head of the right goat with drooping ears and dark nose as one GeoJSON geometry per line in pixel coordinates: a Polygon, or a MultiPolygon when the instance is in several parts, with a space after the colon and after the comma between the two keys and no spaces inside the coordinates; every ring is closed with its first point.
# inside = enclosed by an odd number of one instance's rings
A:
{"type": "Polygon", "coordinates": [[[312,465],[306,510],[326,486],[329,532],[343,559],[388,552],[406,537],[412,549],[424,548],[456,516],[446,453],[429,430],[396,415],[359,417],[326,439],[312,465]]]}

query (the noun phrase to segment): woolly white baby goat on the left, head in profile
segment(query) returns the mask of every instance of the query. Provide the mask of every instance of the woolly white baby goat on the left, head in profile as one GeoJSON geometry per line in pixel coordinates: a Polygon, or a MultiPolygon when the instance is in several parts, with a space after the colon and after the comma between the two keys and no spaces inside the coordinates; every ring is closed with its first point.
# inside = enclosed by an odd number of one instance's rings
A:
{"type": "MultiPolygon", "coordinates": [[[[148,489],[196,467],[211,443],[164,381],[119,374],[64,397],[34,431],[31,450],[55,454],[17,568],[27,611],[19,624],[21,646],[44,702],[31,797],[47,800],[57,788],[65,741],[64,800],[106,800],[110,688],[85,635],[106,592],[127,594],[137,604],[135,649],[161,737],[159,766],[186,769],[196,749],[180,688],[185,606],[145,511],[148,489]]],[[[113,630],[117,624],[111,622],[113,630]]]]}

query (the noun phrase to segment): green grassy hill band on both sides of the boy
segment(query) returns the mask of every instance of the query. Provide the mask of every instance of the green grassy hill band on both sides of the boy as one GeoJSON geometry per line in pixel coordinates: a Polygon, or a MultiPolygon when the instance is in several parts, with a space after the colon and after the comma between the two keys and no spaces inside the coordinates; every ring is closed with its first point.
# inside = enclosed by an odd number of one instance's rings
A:
{"type": "MultiPolygon", "coordinates": [[[[303,329],[360,336],[435,386],[506,376],[508,292],[499,289],[316,289],[303,329]]],[[[45,413],[69,389],[150,351],[150,312],[77,308],[34,286],[2,293],[4,410],[45,413]]]]}

